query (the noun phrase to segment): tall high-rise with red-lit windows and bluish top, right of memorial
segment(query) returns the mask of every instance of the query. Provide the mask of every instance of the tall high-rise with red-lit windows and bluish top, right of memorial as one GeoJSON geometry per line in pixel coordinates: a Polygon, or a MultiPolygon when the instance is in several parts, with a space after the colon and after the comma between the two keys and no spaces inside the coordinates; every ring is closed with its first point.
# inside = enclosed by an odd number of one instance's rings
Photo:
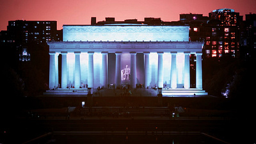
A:
{"type": "Polygon", "coordinates": [[[205,29],[205,56],[239,56],[240,28],[243,16],[233,9],[223,8],[209,13],[205,29]]]}

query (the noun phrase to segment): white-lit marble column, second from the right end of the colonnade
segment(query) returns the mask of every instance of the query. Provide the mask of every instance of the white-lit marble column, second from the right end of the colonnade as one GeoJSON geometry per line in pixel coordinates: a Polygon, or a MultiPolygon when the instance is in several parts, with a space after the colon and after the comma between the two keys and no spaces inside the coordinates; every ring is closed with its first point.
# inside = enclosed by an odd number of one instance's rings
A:
{"type": "Polygon", "coordinates": [[[190,65],[189,65],[189,55],[190,52],[184,52],[184,88],[190,88],[190,65]]]}

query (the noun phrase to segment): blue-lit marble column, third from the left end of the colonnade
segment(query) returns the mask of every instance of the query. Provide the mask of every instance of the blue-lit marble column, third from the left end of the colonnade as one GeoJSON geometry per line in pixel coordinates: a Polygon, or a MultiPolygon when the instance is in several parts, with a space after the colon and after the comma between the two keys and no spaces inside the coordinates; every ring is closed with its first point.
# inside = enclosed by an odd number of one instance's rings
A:
{"type": "Polygon", "coordinates": [[[80,54],[81,52],[74,52],[75,54],[75,88],[81,85],[81,68],[80,68],[80,54]]]}

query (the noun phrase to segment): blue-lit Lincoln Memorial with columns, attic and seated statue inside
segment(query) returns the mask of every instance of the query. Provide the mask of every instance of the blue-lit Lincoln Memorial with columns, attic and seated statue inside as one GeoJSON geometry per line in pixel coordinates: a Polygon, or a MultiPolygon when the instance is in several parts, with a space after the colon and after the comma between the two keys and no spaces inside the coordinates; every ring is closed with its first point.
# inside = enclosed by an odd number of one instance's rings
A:
{"type": "Polygon", "coordinates": [[[49,42],[49,89],[163,88],[163,95],[207,95],[202,47],[189,26],[63,25],[63,42],[49,42]],[[189,56],[196,56],[191,88],[189,56]]]}

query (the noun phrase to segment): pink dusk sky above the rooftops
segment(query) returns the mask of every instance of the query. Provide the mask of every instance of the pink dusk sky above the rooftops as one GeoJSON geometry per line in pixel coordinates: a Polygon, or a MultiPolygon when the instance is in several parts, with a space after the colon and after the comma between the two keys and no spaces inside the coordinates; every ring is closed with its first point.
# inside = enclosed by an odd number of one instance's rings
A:
{"type": "Polygon", "coordinates": [[[1,0],[0,30],[6,30],[8,20],[18,19],[57,20],[62,29],[63,24],[90,24],[91,17],[173,21],[180,13],[208,15],[219,8],[232,8],[240,15],[256,13],[255,6],[256,0],[1,0]]]}

